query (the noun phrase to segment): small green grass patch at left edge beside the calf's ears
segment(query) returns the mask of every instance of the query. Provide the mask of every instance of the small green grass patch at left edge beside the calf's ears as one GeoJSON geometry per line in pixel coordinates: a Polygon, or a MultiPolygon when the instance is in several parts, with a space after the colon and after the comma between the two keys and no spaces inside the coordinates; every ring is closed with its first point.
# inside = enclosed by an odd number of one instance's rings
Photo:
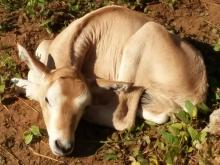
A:
{"type": "Polygon", "coordinates": [[[0,102],[4,100],[6,91],[11,88],[12,77],[21,77],[16,63],[8,53],[0,54],[0,102]]]}

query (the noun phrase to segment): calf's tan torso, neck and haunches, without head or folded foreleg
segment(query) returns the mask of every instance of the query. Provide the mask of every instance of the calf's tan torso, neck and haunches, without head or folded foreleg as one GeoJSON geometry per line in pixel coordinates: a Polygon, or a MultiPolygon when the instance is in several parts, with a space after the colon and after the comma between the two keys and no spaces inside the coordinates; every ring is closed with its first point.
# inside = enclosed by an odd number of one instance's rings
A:
{"type": "Polygon", "coordinates": [[[200,53],[149,21],[124,7],[105,7],[70,24],[53,40],[49,52],[57,68],[74,65],[91,79],[148,89],[152,101],[141,111],[169,113],[185,100],[205,100],[207,80],[200,53]]]}

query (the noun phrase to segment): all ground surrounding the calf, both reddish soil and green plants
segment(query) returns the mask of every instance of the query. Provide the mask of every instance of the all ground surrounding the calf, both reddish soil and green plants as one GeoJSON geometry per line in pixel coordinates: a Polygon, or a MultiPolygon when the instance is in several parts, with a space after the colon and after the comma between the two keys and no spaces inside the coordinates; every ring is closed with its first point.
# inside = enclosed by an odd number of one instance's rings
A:
{"type": "Polygon", "coordinates": [[[219,11],[219,0],[0,0],[0,165],[220,164],[220,136],[202,131],[209,114],[220,107],[219,11]],[[81,121],[75,153],[54,156],[39,104],[15,92],[10,82],[28,71],[18,59],[16,43],[34,53],[41,40],[54,38],[74,19],[108,4],[144,12],[202,52],[209,80],[207,106],[187,101],[188,113],[174,115],[167,124],[138,120],[134,129],[123,132],[81,121]],[[40,136],[33,135],[27,145],[24,132],[34,125],[40,136]]]}

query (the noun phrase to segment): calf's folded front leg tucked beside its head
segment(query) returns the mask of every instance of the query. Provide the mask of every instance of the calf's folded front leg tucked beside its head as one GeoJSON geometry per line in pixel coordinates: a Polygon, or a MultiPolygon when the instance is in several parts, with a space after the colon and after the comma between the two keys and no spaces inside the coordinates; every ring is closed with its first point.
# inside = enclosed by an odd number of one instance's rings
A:
{"type": "Polygon", "coordinates": [[[96,79],[95,83],[90,81],[90,89],[93,98],[100,99],[100,104],[96,101],[96,105],[88,108],[84,116],[87,121],[117,130],[134,126],[139,100],[144,91],[142,87],[134,87],[132,83],[96,79]],[[114,95],[106,95],[106,91],[110,89],[114,90],[114,95]],[[102,103],[103,97],[108,98],[107,104],[102,103]]]}

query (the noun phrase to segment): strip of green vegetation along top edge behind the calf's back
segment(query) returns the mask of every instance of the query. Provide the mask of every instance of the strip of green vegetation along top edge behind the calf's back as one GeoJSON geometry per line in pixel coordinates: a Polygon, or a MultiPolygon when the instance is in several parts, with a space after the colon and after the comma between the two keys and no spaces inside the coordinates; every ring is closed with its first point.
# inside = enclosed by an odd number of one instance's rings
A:
{"type": "MultiPolygon", "coordinates": [[[[146,6],[149,2],[158,0],[68,0],[63,3],[56,0],[0,0],[8,11],[20,9],[29,18],[40,19],[41,26],[51,34],[60,31],[67,26],[74,18],[82,17],[86,13],[109,4],[126,5],[131,9],[147,11],[146,6]],[[53,5],[51,5],[53,4],[53,5]]],[[[13,28],[11,23],[1,23],[0,31],[7,32],[13,28]]]]}

